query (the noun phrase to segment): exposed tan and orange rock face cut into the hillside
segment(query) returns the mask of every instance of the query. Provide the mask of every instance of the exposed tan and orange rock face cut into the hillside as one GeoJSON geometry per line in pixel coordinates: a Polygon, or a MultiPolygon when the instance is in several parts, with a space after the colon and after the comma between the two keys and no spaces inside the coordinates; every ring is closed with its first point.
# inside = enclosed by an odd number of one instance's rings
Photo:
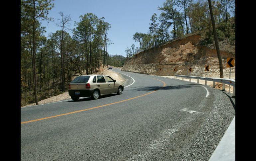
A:
{"type": "MultiPolygon", "coordinates": [[[[199,40],[200,35],[192,35],[144,50],[128,59],[122,70],[162,76],[175,74],[206,76],[205,65],[210,65],[208,77],[219,77],[219,61],[216,50],[199,45],[199,40]],[[176,72],[174,68],[177,69],[176,72]],[[192,72],[189,72],[189,68],[192,68],[192,72]]],[[[228,77],[229,68],[226,67],[226,60],[229,57],[235,58],[235,53],[223,50],[220,52],[224,77],[228,77]]],[[[235,67],[231,68],[231,76],[235,77],[235,67]]]]}

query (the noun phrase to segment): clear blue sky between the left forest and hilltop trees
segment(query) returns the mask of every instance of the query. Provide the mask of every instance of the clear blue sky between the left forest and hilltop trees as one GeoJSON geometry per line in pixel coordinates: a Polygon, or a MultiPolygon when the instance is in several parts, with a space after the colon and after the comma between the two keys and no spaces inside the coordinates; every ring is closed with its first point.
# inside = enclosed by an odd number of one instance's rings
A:
{"type": "MultiPolygon", "coordinates": [[[[107,47],[110,55],[123,55],[125,48],[131,47],[134,43],[139,47],[132,37],[136,32],[148,33],[151,16],[156,13],[159,17],[161,11],[158,6],[162,6],[166,0],[55,0],[54,8],[49,11],[48,17],[54,22],[42,21],[42,26],[46,27],[45,36],[61,30],[56,26],[57,19],[60,19],[59,12],[70,15],[72,21],[69,28],[74,29],[74,21],[79,22],[80,15],[93,13],[98,18],[105,17],[105,22],[111,24],[108,31],[108,38],[114,44],[107,47]]],[[[72,36],[71,31],[67,31],[72,36]]]]}

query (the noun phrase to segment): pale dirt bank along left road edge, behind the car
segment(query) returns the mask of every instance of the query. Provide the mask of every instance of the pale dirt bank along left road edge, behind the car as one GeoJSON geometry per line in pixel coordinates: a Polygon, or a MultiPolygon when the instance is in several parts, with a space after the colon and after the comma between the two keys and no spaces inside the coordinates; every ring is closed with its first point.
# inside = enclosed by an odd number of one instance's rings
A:
{"type": "MultiPolygon", "coordinates": [[[[122,82],[122,83],[125,82],[125,79],[122,77],[121,74],[116,73],[116,72],[114,72],[112,70],[107,70],[106,67],[105,68],[101,67],[99,69],[99,71],[97,73],[95,73],[95,74],[109,75],[111,78],[115,79],[117,82],[122,82]]],[[[38,104],[42,105],[42,104],[56,102],[56,101],[62,101],[62,100],[66,100],[66,99],[70,99],[70,96],[68,95],[68,92],[64,92],[64,93],[62,93],[60,95],[53,96],[53,97],[50,97],[50,98],[45,99],[45,100],[41,100],[41,101],[38,102],[38,104]]],[[[29,105],[26,105],[26,106],[23,106],[23,107],[34,106],[34,105],[36,105],[36,103],[29,104],[29,105]]]]}

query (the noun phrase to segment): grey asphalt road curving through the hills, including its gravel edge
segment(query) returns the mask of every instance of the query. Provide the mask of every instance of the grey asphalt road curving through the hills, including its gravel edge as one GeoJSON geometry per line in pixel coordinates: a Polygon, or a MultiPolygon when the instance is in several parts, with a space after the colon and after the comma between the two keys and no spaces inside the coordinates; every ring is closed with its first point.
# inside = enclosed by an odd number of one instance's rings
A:
{"type": "Polygon", "coordinates": [[[21,160],[210,158],[235,99],[191,82],[113,70],[127,79],[122,95],[22,108],[21,160]]]}

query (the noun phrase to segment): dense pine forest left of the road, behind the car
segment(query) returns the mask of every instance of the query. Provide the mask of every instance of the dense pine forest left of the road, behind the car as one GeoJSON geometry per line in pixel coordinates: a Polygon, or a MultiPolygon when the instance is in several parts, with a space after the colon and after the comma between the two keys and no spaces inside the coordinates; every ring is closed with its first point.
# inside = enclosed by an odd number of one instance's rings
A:
{"type": "Polygon", "coordinates": [[[71,37],[71,17],[60,12],[60,30],[47,39],[40,21],[51,20],[47,15],[53,7],[53,0],[21,0],[21,106],[67,91],[72,77],[92,74],[107,61],[122,64],[115,57],[108,60],[111,26],[92,13],[80,16],[71,37]]]}

